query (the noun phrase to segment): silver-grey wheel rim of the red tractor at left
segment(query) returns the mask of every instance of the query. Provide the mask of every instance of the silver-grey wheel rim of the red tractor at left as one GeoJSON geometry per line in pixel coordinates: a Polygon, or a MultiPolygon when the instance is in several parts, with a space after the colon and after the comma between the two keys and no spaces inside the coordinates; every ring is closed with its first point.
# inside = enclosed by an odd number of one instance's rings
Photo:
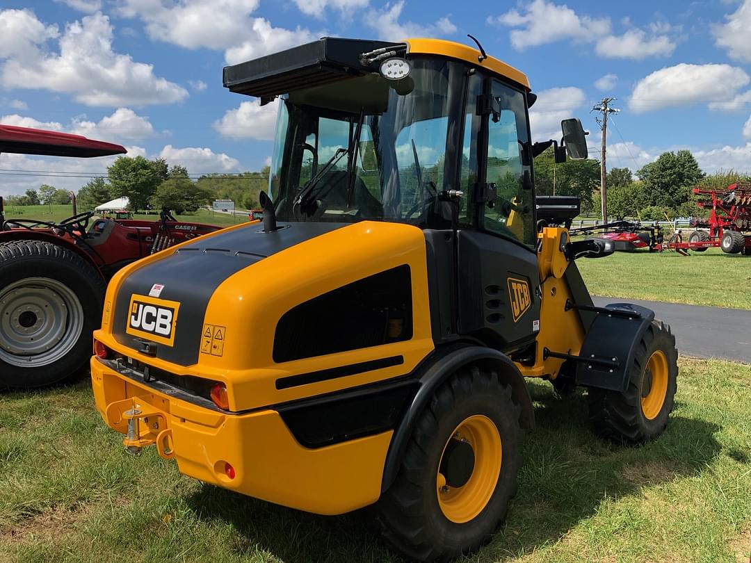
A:
{"type": "Polygon", "coordinates": [[[26,278],[0,290],[0,360],[35,368],[71,351],[83,330],[83,306],[56,279],[26,278]]]}

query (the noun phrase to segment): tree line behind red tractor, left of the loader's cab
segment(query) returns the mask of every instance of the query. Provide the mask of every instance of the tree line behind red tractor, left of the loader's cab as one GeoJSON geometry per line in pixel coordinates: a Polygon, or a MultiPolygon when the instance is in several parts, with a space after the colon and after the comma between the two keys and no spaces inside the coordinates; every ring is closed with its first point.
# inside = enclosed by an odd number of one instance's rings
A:
{"type": "MultiPolygon", "coordinates": [[[[107,177],[89,180],[76,194],[80,212],[92,211],[116,197],[128,197],[128,210],[137,213],[166,207],[176,214],[194,213],[213,200],[233,200],[237,208],[258,207],[258,192],[268,183],[269,167],[261,172],[207,174],[193,179],[182,166],[163,158],[120,157],[107,167],[107,177]]],[[[38,190],[6,198],[8,205],[68,204],[68,191],[43,184],[38,190]]]]}

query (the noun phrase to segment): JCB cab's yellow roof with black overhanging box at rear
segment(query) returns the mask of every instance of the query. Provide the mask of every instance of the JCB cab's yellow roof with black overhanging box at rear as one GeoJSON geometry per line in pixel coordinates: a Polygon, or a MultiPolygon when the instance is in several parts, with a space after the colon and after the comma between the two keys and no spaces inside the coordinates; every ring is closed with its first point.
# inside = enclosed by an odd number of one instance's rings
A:
{"type": "Polygon", "coordinates": [[[261,104],[264,104],[275,96],[295,89],[322,86],[348,77],[370,74],[377,67],[372,65],[372,59],[366,60],[363,56],[374,51],[391,53],[389,56],[409,53],[469,62],[529,90],[527,77],[499,59],[490,56],[482,59],[478,50],[453,41],[420,38],[398,43],[322,38],[259,59],[227,66],[223,71],[223,82],[231,92],[261,98],[261,104]]]}

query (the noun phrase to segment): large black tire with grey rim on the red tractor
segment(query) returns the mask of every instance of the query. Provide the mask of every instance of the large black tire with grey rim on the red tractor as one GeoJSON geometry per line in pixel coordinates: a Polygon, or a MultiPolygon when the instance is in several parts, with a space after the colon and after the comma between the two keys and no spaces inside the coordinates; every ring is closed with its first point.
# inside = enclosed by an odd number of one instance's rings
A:
{"type": "Polygon", "coordinates": [[[61,245],[0,243],[0,387],[42,387],[82,368],[104,290],[92,263],[61,245]]]}

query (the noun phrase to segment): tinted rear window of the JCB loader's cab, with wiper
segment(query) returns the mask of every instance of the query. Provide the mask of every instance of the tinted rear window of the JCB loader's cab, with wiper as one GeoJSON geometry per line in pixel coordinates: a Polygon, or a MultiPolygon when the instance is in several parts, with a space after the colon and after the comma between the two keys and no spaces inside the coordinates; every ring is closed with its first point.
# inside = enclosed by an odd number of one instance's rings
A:
{"type": "Polygon", "coordinates": [[[436,195],[452,188],[466,67],[411,62],[399,82],[369,74],[282,101],[270,179],[279,219],[450,222],[436,195]]]}

